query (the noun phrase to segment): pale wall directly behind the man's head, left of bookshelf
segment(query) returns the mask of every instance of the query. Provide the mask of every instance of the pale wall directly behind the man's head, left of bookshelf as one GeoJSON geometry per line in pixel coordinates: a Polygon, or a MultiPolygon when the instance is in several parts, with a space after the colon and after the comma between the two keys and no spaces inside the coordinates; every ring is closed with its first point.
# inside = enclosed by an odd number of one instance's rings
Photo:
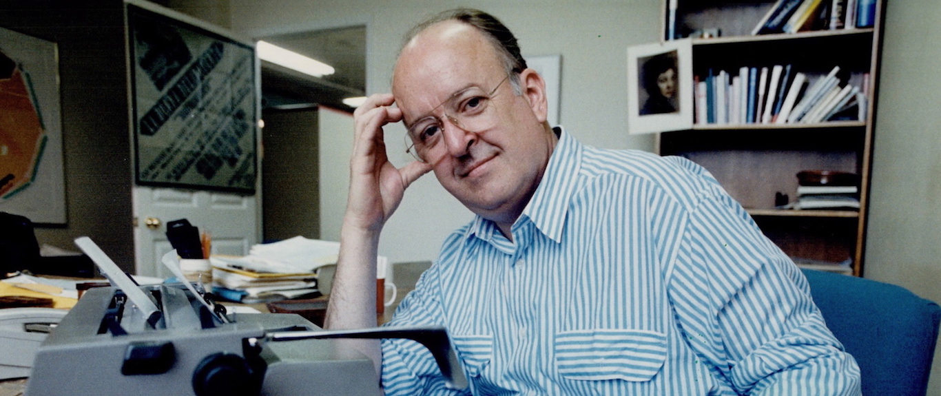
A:
{"type": "MultiPolygon", "coordinates": [[[[447,8],[485,9],[517,34],[524,55],[562,55],[559,119],[569,132],[589,145],[652,150],[650,136],[626,133],[625,59],[628,46],[657,37],[660,5],[660,0],[408,1],[394,5],[371,0],[231,0],[230,9],[232,30],[248,37],[367,24],[368,93],[389,91],[395,56],[412,24],[447,8]]],[[[404,128],[392,125],[386,134],[392,162],[405,165],[410,157],[405,152],[404,128]]],[[[407,191],[383,231],[379,252],[392,262],[433,260],[444,237],[470,218],[470,212],[433,176],[425,176],[407,191]]],[[[331,233],[339,234],[339,230],[322,230],[324,235],[331,233]]]]}

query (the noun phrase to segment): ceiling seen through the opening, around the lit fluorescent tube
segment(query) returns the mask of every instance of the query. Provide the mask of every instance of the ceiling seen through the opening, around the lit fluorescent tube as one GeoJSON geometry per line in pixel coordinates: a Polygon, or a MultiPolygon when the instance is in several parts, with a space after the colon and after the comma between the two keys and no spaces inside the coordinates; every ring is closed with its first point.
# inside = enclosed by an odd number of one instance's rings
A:
{"type": "Polygon", "coordinates": [[[366,91],[366,27],[352,26],[260,38],[332,66],[321,78],[262,62],[262,106],[289,109],[313,104],[353,111],[343,98],[366,91]]]}

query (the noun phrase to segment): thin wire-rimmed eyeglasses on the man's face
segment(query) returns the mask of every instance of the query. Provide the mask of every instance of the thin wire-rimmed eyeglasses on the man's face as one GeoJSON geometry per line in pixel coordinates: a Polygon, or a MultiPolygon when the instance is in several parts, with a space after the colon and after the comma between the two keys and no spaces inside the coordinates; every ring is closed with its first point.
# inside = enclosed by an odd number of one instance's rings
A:
{"type": "Polygon", "coordinates": [[[423,163],[437,163],[447,151],[441,142],[444,139],[444,119],[470,133],[493,127],[496,118],[490,101],[496,96],[497,89],[509,78],[510,75],[507,74],[489,92],[484,92],[480,87],[469,87],[452,94],[448,100],[432,109],[431,114],[408,127],[406,151],[423,163]],[[443,118],[433,114],[439,108],[443,109],[443,118]]]}

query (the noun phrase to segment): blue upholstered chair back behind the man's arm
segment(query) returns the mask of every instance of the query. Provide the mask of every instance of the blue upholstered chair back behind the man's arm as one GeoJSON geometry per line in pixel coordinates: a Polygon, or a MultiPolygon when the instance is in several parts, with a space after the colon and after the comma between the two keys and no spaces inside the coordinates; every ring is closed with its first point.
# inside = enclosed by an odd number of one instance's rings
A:
{"type": "Polygon", "coordinates": [[[864,395],[924,396],[941,308],[862,277],[804,270],[830,330],[856,358],[864,395]]]}

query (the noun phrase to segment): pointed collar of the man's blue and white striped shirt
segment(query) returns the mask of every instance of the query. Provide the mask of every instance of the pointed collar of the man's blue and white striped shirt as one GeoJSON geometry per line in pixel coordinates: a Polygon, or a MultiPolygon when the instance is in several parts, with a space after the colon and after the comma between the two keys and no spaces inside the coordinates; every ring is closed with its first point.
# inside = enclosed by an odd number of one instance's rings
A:
{"type": "MultiPolygon", "coordinates": [[[[542,181],[514,228],[529,220],[551,240],[561,242],[568,203],[575,193],[575,182],[582,168],[582,144],[566,134],[561,126],[553,128],[553,131],[559,136],[559,141],[552,150],[542,181]]],[[[497,225],[478,215],[470,224],[465,237],[476,235],[482,240],[493,242],[496,234],[499,234],[497,225]]]]}

